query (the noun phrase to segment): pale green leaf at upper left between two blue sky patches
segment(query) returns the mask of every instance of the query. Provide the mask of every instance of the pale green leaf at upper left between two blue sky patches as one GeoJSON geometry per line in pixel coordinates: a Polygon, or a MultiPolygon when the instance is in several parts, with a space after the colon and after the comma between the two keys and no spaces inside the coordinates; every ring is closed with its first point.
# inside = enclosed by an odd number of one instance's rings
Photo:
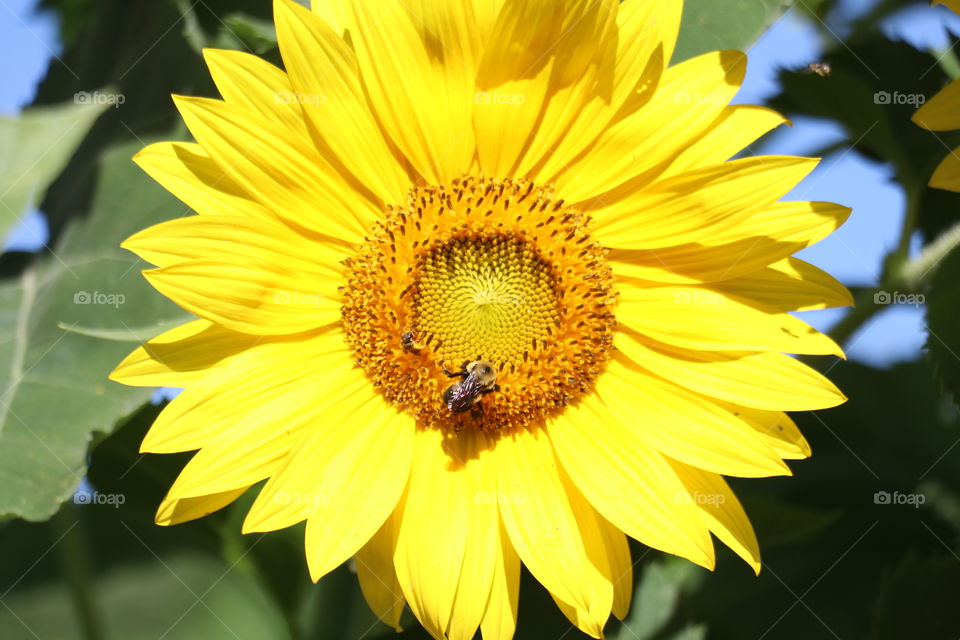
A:
{"type": "Polygon", "coordinates": [[[72,103],[0,117],[0,240],[40,202],[115,97],[109,90],[81,93],[72,103]]]}

